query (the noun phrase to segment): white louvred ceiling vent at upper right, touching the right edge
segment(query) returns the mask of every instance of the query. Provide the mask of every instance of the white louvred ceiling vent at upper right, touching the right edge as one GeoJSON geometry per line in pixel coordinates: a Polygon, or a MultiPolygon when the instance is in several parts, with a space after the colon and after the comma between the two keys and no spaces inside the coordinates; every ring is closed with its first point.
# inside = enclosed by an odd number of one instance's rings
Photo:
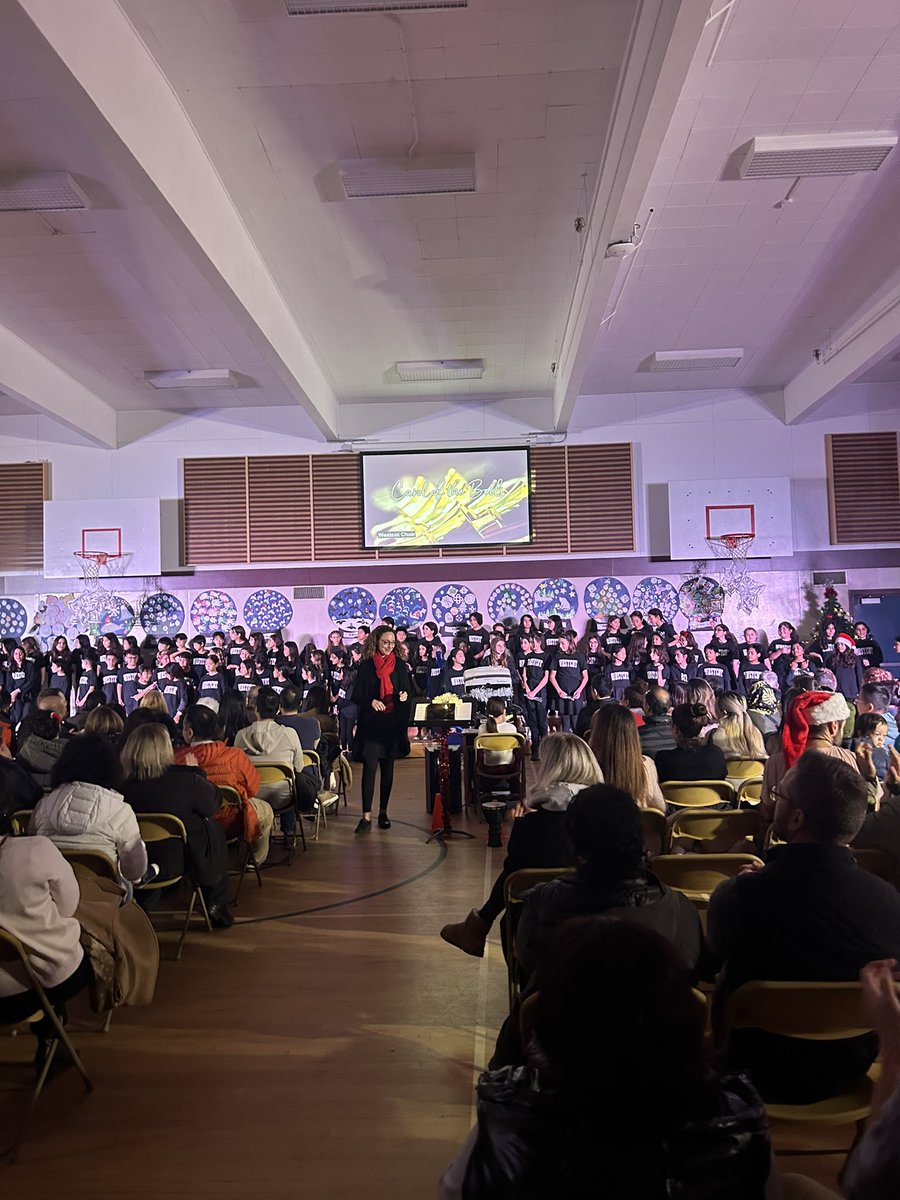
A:
{"type": "Polygon", "coordinates": [[[742,179],[802,179],[804,175],[852,175],[877,170],[896,137],[815,133],[805,137],[754,138],[738,168],[742,179]]]}

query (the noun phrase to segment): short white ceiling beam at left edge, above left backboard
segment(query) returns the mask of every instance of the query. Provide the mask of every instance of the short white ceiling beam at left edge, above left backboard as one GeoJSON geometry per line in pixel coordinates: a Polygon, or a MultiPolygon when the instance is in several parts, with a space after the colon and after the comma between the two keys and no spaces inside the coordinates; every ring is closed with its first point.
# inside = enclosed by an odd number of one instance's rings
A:
{"type": "Polygon", "coordinates": [[[115,410],[6,325],[0,325],[0,391],[98,445],[119,444],[115,410]]]}

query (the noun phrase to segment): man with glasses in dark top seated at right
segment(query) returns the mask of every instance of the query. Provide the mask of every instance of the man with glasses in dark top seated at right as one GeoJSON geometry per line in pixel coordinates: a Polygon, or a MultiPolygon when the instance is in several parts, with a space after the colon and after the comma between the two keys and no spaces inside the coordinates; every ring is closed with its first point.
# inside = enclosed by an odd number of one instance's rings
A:
{"type": "MultiPolygon", "coordinates": [[[[853,860],[866,811],[859,772],[806,750],[778,782],[766,866],[721,883],[709,901],[710,949],[722,965],[716,1006],[750,979],[856,979],[874,959],[900,958],[900,894],[853,860]]],[[[812,1103],[851,1087],[875,1058],[874,1037],[786,1039],[734,1033],[733,1067],[773,1103],[812,1103]]]]}

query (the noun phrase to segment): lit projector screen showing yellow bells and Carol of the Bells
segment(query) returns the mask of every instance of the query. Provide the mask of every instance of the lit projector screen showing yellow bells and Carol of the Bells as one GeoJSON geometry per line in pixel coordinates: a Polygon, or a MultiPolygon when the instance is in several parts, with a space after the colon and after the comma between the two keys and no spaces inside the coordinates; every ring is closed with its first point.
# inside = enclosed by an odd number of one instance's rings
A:
{"type": "Polygon", "coordinates": [[[532,540],[528,450],[364,454],[368,550],[532,540]]]}

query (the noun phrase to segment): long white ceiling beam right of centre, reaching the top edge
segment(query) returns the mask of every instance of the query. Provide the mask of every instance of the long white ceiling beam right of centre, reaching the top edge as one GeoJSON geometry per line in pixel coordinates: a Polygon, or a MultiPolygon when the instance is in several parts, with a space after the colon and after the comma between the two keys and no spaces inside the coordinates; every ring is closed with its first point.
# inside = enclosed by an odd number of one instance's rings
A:
{"type": "Polygon", "coordinates": [[[622,266],[604,258],[606,247],[646,221],[641,202],[708,17],[709,0],[642,0],[636,13],[557,359],[558,430],[571,419],[622,266]]]}

